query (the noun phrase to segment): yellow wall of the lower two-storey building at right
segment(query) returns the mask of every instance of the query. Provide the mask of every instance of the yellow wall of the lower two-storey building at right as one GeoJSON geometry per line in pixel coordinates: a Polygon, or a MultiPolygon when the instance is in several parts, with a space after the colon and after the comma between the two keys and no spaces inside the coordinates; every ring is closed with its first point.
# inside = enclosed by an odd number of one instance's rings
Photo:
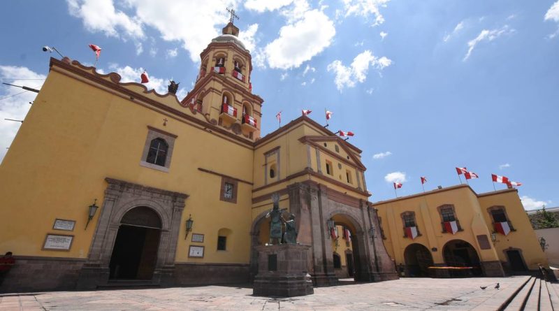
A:
{"type": "Polygon", "coordinates": [[[546,263],[542,256],[542,249],[538,249],[535,233],[516,191],[478,197],[466,185],[451,188],[453,189],[434,190],[423,195],[412,195],[373,204],[382,219],[386,249],[397,264],[405,263],[405,248],[412,243],[419,243],[427,249],[436,247],[437,252],[430,252],[433,255],[433,261],[434,263],[444,263],[444,245],[455,239],[470,243],[476,250],[480,261],[507,261],[502,250],[513,246],[523,249],[523,256],[528,263],[528,268],[535,269],[537,268],[536,263],[546,263]],[[442,219],[437,207],[445,204],[454,205],[456,219],[460,222],[463,231],[458,231],[456,234],[442,233],[442,219]],[[493,205],[507,207],[507,213],[517,231],[510,233],[507,238],[499,236],[497,242],[491,243],[491,249],[481,249],[476,236],[487,235],[488,238],[491,238],[493,226],[486,208],[493,205]],[[400,214],[407,211],[415,212],[416,225],[421,233],[421,236],[414,240],[405,238],[403,231],[404,224],[400,214]]]}

